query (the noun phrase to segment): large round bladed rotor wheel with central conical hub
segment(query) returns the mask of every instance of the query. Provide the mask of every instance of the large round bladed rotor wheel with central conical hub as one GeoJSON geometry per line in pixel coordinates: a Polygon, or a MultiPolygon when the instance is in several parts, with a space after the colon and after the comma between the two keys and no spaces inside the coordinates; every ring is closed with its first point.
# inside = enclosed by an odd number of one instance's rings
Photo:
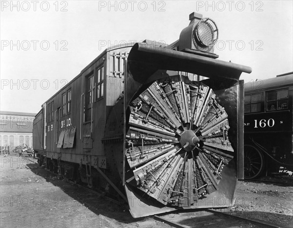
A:
{"type": "Polygon", "coordinates": [[[212,89],[173,76],[152,83],[128,109],[126,182],[180,207],[218,190],[234,151],[228,115],[212,89]]]}

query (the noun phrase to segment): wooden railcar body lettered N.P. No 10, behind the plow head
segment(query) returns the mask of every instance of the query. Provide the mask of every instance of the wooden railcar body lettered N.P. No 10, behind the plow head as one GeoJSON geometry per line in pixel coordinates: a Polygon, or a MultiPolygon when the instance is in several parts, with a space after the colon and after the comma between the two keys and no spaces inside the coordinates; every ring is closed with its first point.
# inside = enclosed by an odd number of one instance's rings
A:
{"type": "MultiPolygon", "coordinates": [[[[114,169],[112,165],[116,164],[112,158],[106,160],[102,139],[106,116],[124,90],[125,63],[131,47],[132,44],[126,44],[107,48],[42,105],[34,126],[34,148],[39,154],[55,162],[62,160],[106,171],[114,169]]],[[[46,160],[45,163],[48,165],[46,160]]],[[[49,165],[58,166],[58,163],[49,165]]]]}

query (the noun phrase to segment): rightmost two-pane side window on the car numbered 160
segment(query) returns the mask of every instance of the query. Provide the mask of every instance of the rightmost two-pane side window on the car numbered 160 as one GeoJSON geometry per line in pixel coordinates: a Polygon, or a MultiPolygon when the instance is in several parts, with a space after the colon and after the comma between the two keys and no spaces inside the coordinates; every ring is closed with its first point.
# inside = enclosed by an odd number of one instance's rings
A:
{"type": "Polygon", "coordinates": [[[267,111],[288,109],[288,89],[267,92],[267,111]]]}

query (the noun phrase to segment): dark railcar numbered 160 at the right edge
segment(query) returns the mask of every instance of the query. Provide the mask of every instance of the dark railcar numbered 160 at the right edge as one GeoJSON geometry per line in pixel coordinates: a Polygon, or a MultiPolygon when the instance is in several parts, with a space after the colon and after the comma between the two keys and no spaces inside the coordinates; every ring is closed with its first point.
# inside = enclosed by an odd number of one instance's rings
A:
{"type": "Polygon", "coordinates": [[[245,84],[244,174],[293,170],[293,72],[245,84]]]}

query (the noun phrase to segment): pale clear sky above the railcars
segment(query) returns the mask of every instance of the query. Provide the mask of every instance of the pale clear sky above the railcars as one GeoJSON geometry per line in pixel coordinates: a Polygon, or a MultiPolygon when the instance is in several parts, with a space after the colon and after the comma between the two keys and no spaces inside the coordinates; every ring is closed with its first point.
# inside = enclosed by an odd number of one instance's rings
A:
{"type": "Polygon", "coordinates": [[[41,105],[105,48],[171,44],[197,12],[218,26],[214,53],[249,66],[245,82],[293,71],[293,1],[10,1],[0,9],[0,110],[41,105]]]}

